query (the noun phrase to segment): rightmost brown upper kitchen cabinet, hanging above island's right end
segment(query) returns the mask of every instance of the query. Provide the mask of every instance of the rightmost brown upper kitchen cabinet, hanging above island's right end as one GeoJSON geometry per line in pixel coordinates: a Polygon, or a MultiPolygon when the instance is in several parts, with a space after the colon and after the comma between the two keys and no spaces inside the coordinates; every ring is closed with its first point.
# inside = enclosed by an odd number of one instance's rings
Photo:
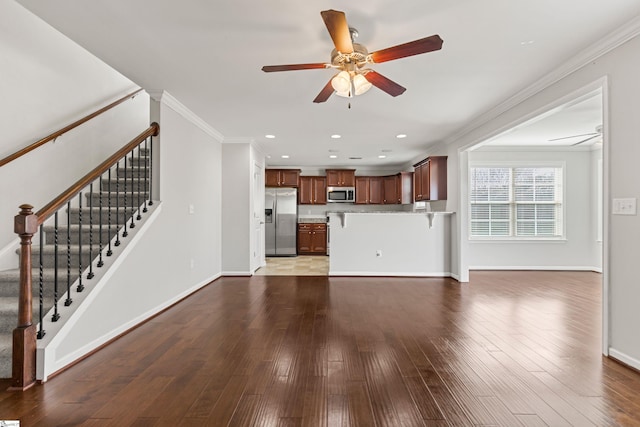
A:
{"type": "Polygon", "coordinates": [[[427,157],[413,166],[415,201],[446,200],[447,156],[427,157]]]}

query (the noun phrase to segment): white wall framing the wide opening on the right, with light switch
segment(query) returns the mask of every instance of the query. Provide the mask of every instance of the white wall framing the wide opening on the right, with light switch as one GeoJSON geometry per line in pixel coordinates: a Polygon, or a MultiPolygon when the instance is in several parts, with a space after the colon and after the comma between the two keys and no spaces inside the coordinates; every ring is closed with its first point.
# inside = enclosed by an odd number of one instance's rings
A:
{"type": "MultiPolygon", "coordinates": [[[[637,325],[640,324],[640,287],[636,286],[638,277],[638,254],[640,253],[640,217],[608,215],[611,199],[640,198],[640,37],[637,36],[640,22],[635,23],[635,37],[599,57],[585,54],[586,65],[577,71],[557,74],[546,80],[545,86],[532,88],[526,99],[509,101],[508,108],[496,108],[487,117],[478,118],[468,129],[454,139],[447,141],[429,152],[429,155],[447,154],[457,159],[459,151],[481,142],[526,119],[556,105],[562,98],[577,93],[586,93],[585,88],[594,88],[599,81],[605,81],[605,230],[608,228],[608,241],[603,242],[608,250],[604,260],[605,336],[608,335],[608,347],[611,355],[640,369],[640,340],[637,338],[637,325]],[[492,118],[489,118],[492,117],[492,118]],[[607,314],[608,313],[608,314],[607,314]],[[607,326],[608,325],[608,326],[607,326]],[[608,334],[607,334],[608,333],[608,334]]],[[[628,32],[633,29],[628,30],[628,32]]],[[[626,39],[625,34],[620,34],[626,39]]],[[[575,63],[572,62],[572,63],[575,63]]],[[[458,162],[449,162],[449,200],[448,210],[458,210],[458,201],[465,194],[460,193],[460,177],[464,171],[458,162]]],[[[464,232],[463,224],[457,224],[464,232]]],[[[605,234],[605,237],[607,235],[605,234]]],[[[455,254],[462,264],[459,274],[464,279],[464,251],[466,236],[459,236],[458,252],[455,254]]]]}

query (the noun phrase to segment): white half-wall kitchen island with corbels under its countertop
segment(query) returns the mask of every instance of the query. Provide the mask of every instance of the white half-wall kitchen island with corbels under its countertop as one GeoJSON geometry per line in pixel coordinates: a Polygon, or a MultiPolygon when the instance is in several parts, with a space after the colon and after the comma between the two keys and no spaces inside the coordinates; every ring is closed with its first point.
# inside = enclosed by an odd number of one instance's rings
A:
{"type": "Polygon", "coordinates": [[[330,213],[330,276],[451,276],[451,212],[330,213]]]}

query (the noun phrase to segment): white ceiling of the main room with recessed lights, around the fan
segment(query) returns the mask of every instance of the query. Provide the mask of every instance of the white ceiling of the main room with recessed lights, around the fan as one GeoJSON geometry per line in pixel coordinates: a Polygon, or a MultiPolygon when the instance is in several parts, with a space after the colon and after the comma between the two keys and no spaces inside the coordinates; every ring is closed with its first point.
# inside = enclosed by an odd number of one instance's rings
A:
{"type": "MultiPolygon", "coordinates": [[[[19,3],[141,87],[166,90],[225,139],[257,142],[271,166],[403,165],[640,15],[638,0],[19,3]],[[329,62],[326,9],[344,11],[369,51],[432,34],[444,45],[371,67],[407,88],[396,98],[373,88],[350,109],[335,95],[314,104],[332,70],[260,69],[329,62]]],[[[544,139],[586,133],[581,120],[544,139]]]]}

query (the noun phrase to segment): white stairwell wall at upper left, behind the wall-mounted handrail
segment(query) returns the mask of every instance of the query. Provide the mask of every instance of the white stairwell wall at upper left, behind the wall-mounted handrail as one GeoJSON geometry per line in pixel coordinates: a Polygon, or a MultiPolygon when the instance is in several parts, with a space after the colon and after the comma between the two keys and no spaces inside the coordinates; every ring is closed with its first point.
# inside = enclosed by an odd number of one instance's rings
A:
{"type": "MultiPolygon", "coordinates": [[[[11,0],[0,0],[0,70],[0,158],[137,89],[11,0]]],[[[17,267],[18,206],[37,211],[133,139],[149,126],[148,103],[139,94],[0,168],[0,270],[17,267]]]]}

